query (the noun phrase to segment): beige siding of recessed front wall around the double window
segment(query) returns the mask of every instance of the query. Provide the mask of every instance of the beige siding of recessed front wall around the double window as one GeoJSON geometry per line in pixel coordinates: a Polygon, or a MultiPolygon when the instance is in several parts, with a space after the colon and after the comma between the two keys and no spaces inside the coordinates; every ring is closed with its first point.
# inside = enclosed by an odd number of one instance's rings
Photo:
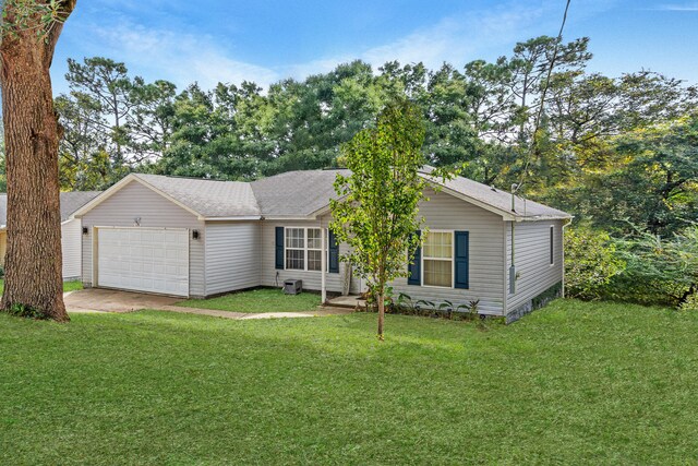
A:
{"type": "MultiPolygon", "coordinates": [[[[327,228],[329,217],[324,217],[321,220],[265,220],[261,224],[261,285],[262,286],[279,286],[284,285],[285,279],[297,278],[303,280],[303,288],[311,290],[320,290],[322,274],[313,271],[287,271],[275,268],[275,228],[276,227],[305,227],[305,228],[327,228]],[[278,272],[278,278],[276,276],[278,272]]],[[[327,234],[325,234],[327,235],[327,234]]],[[[327,237],[326,237],[327,238],[327,237]]],[[[329,244],[325,243],[325,249],[329,244]]],[[[347,246],[339,246],[339,254],[347,252],[347,246]]],[[[345,264],[339,264],[339,273],[329,273],[326,275],[326,289],[330,292],[341,292],[344,287],[345,277],[345,264]]],[[[357,292],[359,290],[359,279],[352,277],[351,291],[357,292]]]]}

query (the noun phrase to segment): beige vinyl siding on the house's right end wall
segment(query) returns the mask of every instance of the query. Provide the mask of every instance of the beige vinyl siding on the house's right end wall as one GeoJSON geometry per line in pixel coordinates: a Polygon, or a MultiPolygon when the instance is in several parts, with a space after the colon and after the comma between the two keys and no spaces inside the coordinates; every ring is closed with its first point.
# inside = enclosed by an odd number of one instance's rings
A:
{"type": "MultiPolygon", "coordinates": [[[[531,300],[563,279],[563,222],[519,222],[515,225],[516,294],[508,294],[507,312],[531,300]],[[550,264],[550,227],[554,226],[554,263],[550,264]]],[[[512,223],[506,223],[507,292],[512,265],[512,223]]]]}

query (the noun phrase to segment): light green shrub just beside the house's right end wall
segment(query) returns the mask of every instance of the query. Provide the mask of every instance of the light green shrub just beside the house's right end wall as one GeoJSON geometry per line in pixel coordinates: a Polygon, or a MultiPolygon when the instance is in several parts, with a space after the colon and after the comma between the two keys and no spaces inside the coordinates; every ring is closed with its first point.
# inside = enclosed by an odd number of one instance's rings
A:
{"type": "Polygon", "coordinates": [[[625,268],[610,235],[579,225],[565,231],[565,292],[568,297],[600,299],[611,278],[625,268]]]}

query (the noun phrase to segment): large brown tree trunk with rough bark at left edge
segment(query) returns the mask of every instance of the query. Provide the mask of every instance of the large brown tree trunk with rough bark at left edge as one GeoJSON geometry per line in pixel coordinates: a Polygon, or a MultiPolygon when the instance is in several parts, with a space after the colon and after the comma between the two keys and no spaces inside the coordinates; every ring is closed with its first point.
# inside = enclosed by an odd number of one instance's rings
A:
{"type": "MultiPolygon", "coordinates": [[[[34,3],[48,3],[37,0],[34,3]]],[[[75,0],[60,7],[68,17],[75,0]]],[[[15,3],[5,2],[8,24],[15,3]]],[[[29,24],[41,24],[36,13],[29,24]]],[[[3,31],[0,44],[2,113],[8,177],[8,249],[2,309],[31,308],[68,321],[63,304],[58,122],[49,68],[62,24],[46,24],[45,37],[25,27],[3,31]]],[[[12,26],[8,26],[12,27],[12,26]]]]}

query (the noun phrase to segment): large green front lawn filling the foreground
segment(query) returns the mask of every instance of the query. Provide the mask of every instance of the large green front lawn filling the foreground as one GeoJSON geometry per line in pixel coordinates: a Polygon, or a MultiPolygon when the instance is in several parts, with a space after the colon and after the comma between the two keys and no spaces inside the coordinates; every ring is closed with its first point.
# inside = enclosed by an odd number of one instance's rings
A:
{"type": "Polygon", "coordinates": [[[0,315],[3,464],[694,464],[698,313],[0,315]]]}

